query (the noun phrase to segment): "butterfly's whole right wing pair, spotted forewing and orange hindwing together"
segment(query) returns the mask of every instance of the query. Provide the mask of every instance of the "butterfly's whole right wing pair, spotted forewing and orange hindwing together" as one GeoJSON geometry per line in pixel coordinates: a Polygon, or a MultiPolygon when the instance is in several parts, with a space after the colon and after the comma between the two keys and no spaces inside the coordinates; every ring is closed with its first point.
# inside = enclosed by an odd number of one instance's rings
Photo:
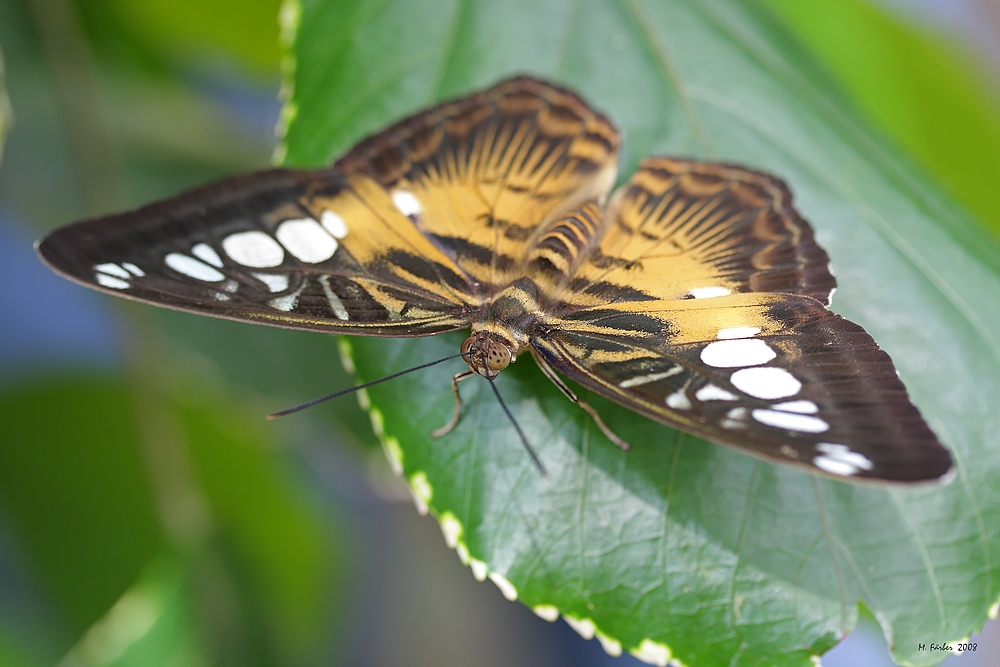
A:
{"type": "Polygon", "coordinates": [[[531,341],[549,366],[659,421],[816,472],[919,481],[951,469],[889,356],[826,308],[826,253],[780,181],[650,158],[604,218],[591,209],[553,225],[603,234],[568,262],[531,341]]]}

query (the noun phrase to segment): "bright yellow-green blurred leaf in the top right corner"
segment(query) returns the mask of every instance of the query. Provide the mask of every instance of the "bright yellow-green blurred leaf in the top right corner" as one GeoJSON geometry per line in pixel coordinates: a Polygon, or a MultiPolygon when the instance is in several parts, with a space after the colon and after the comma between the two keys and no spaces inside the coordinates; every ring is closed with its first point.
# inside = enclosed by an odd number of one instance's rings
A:
{"type": "Polygon", "coordinates": [[[765,2],[851,100],[1000,237],[1000,74],[983,56],[867,0],[765,2]]]}

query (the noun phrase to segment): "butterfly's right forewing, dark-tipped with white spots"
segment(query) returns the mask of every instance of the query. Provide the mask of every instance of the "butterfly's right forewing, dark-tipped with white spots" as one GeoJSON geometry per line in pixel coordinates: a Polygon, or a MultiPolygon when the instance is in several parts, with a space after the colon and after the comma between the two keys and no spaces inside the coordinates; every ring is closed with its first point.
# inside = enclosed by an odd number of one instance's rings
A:
{"type": "Polygon", "coordinates": [[[532,346],[602,396],[775,461],[897,482],[951,469],[889,356],[808,297],[611,304],[550,322],[532,346]]]}

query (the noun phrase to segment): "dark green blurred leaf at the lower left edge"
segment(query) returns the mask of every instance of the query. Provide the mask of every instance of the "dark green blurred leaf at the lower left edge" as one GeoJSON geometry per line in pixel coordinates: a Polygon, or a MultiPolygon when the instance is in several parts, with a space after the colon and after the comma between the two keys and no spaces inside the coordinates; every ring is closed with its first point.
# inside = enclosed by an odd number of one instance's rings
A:
{"type": "Polygon", "coordinates": [[[110,378],[36,381],[0,395],[0,499],[77,632],[114,603],[163,537],[128,403],[110,378]]]}

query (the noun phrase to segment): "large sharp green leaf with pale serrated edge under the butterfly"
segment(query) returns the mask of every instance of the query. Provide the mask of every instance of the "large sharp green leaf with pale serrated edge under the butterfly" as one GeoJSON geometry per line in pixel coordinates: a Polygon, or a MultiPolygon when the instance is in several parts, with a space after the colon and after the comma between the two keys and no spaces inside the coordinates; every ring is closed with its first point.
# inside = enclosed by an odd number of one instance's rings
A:
{"type": "MultiPolygon", "coordinates": [[[[372,388],[372,422],[418,504],[477,576],[609,652],[665,664],[809,665],[861,601],[895,658],[969,635],[997,601],[1000,251],[858,125],[750,0],[348,3],[283,11],[284,153],[319,166],[406,113],[527,72],[579,90],[626,134],[622,174],[667,153],[775,173],[836,269],[834,309],[896,361],[957,477],[854,486],[773,466],[591,398],[623,453],[522,360],[497,384],[435,368],[372,388]]],[[[359,379],[453,354],[460,335],[351,339],[359,379]]],[[[994,607],[995,609],[995,607],[994,607]]]]}

